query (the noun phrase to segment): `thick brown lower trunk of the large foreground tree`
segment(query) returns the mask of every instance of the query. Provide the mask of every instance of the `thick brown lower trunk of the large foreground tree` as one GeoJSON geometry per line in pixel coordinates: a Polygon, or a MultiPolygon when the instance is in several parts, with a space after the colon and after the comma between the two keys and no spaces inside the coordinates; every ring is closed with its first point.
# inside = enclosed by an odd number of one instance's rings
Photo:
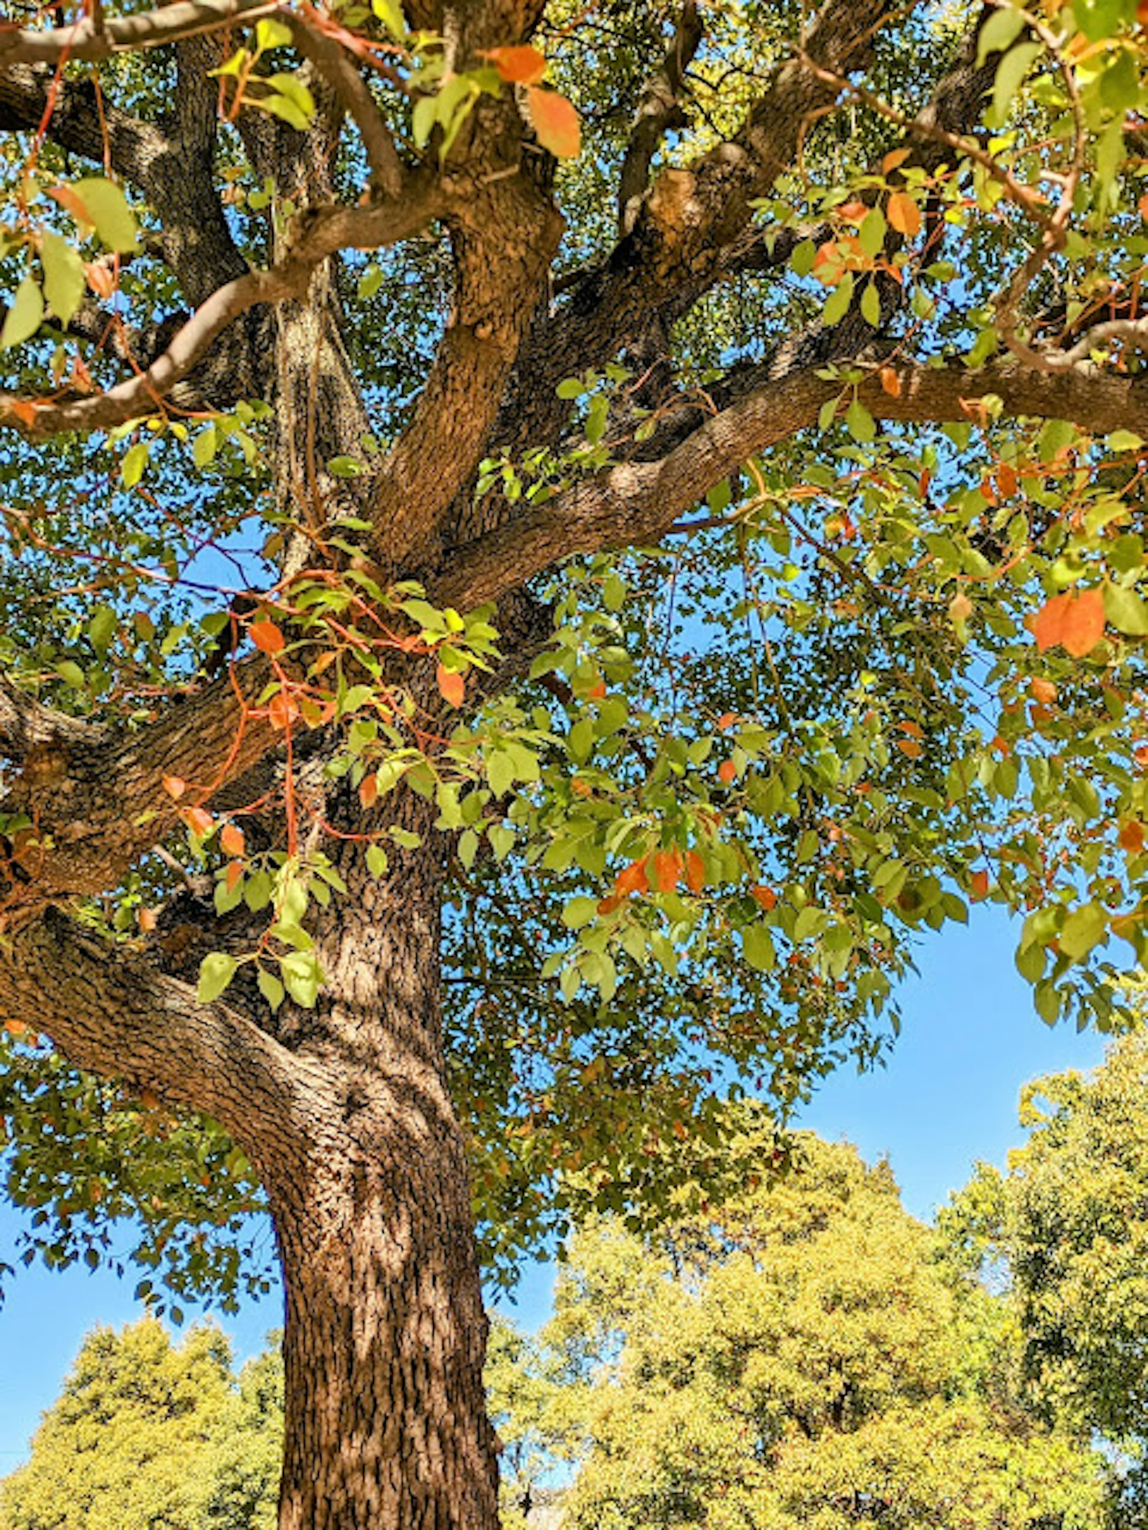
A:
{"type": "Polygon", "coordinates": [[[305,1121],[266,1166],[286,1285],[280,1530],[494,1530],[462,1134],[444,1080],[435,846],[361,845],[325,915],[305,1121]],[[318,1022],[318,1024],[315,1024],[318,1022]]]}

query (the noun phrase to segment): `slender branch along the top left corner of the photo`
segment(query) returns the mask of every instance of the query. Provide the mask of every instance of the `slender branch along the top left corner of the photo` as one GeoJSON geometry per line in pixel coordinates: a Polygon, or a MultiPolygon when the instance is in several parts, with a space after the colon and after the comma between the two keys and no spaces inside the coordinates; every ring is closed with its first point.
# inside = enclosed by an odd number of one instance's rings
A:
{"type": "Polygon", "coordinates": [[[239,21],[272,15],[282,0],[176,0],[161,11],[138,15],[86,15],[73,26],[18,28],[0,23],[0,63],[95,63],[112,54],[159,47],[181,37],[217,32],[239,21]]]}

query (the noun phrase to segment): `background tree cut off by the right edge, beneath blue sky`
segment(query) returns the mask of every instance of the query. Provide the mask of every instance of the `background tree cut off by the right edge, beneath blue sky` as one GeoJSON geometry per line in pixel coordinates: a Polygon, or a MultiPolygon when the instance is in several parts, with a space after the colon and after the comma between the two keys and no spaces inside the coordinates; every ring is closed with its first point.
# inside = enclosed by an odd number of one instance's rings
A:
{"type": "Polygon", "coordinates": [[[1029,1138],[1004,1172],[978,1164],[943,1213],[967,1264],[1007,1276],[1026,1386],[1045,1417],[1094,1431],[1117,1466],[1113,1522],[1145,1522],[1148,1050],[1137,1030],[1091,1074],[1033,1079],[1029,1138]]]}

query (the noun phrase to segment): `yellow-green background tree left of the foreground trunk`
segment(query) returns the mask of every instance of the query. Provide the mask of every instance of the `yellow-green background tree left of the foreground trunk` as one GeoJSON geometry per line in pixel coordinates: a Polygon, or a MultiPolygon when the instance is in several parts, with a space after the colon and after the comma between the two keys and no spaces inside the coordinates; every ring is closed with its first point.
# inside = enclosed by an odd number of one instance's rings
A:
{"type": "Polygon", "coordinates": [[[274,1354],[236,1385],[217,1328],[174,1348],[155,1317],[86,1340],[0,1486],[5,1530],[269,1530],[282,1432],[274,1354]]]}

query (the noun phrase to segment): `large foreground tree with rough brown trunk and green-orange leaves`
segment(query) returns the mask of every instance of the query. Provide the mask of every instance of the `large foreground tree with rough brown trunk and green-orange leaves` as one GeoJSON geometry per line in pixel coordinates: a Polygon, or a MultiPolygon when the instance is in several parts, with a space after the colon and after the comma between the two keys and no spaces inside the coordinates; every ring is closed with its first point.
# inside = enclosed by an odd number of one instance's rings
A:
{"type": "Polygon", "coordinates": [[[1133,0],[0,24],[9,1186],[222,1300],[266,1206],[282,1530],[494,1524],[475,1215],[657,1215],[969,898],[1108,1022],[1142,64],[1133,0]]]}

